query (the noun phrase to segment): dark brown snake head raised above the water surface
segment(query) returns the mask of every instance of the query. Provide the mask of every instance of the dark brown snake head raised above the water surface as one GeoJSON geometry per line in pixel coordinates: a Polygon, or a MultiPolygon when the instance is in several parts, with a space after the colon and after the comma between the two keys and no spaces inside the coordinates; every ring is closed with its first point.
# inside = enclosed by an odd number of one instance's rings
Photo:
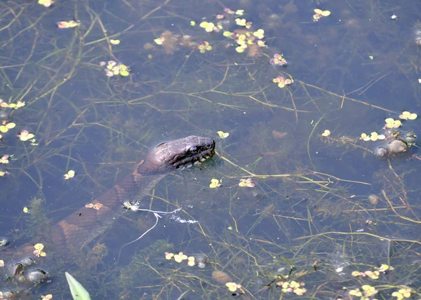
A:
{"type": "Polygon", "coordinates": [[[143,167],[149,172],[182,170],[205,161],[213,154],[215,154],[213,139],[190,135],[156,146],[147,154],[143,167]]]}

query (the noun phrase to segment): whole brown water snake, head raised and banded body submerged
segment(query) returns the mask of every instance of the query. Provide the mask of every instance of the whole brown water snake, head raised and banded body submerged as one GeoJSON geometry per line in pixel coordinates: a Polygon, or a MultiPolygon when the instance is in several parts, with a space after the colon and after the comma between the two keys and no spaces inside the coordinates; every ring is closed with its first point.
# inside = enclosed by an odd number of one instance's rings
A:
{"type": "MultiPolygon", "coordinates": [[[[163,142],[156,146],[133,168],[131,174],[119,184],[109,189],[102,196],[92,201],[103,206],[99,210],[81,207],[53,226],[48,236],[39,236],[29,243],[18,247],[13,256],[18,258],[9,266],[9,281],[20,277],[22,282],[29,282],[34,245],[44,243],[45,250],[55,251],[55,259],[67,258],[69,253],[77,253],[84,245],[93,241],[112,225],[123,211],[122,203],[145,196],[152,187],[168,173],[182,170],[206,160],[215,152],[215,141],[207,137],[189,136],[163,142]],[[83,215],[83,217],[80,216],[83,215]],[[62,256],[62,257],[60,257],[62,256]],[[10,280],[11,279],[11,280],[10,280]]],[[[43,271],[44,272],[44,271],[43,271]]]]}

